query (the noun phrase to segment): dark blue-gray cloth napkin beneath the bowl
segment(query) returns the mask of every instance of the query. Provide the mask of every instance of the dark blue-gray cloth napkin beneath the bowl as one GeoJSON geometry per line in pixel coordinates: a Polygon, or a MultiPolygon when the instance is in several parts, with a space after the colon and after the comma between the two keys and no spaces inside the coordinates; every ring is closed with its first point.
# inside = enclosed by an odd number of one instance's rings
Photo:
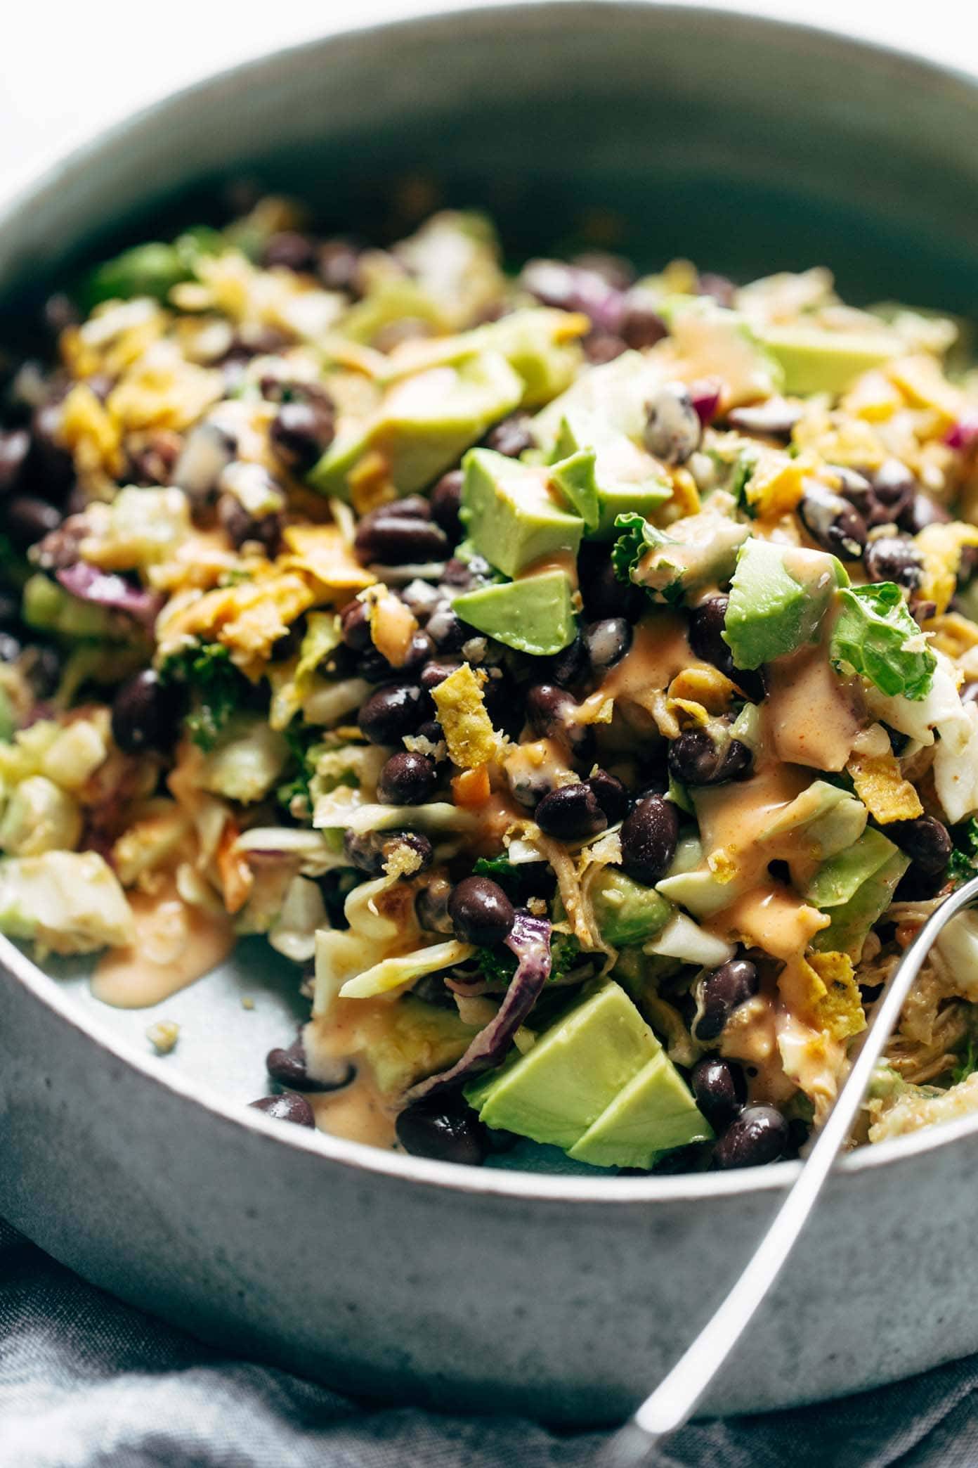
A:
{"type": "MultiPolygon", "coordinates": [[[[679,1433],[667,1468],[974,1468],[978,1358],[679,1433]]],[[[365,1411],[120,1305],[0,1223],[0,1468],[585,1468],[601,1434],[365,1411]]]]}

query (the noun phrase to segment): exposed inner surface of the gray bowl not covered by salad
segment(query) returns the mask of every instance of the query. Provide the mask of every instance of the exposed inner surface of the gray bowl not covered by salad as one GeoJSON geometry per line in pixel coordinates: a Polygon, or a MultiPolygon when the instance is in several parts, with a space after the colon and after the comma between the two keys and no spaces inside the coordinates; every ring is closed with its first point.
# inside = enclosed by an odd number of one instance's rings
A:
{"type": "MultiPolygon", "coordinates": [[[[240,178],[381,241],[478,206],[513,260],[601,245],[739,279],[824,263],[852,299],[978,314],[975,138],[968,79],[730,13],[523,4],[352,32],[161,103],[12,201],[0,341],[29,349],[38,299],[87,260],[226,217],[240,178]]],[[[264,1091],[264,1051],[302,1013],[255,944],[158,1013],[106,1011],[78,967],[63,981],[144,1053],[147,1025],[176,1019],[166,1064],[232,1101],[264,1091]]]]}

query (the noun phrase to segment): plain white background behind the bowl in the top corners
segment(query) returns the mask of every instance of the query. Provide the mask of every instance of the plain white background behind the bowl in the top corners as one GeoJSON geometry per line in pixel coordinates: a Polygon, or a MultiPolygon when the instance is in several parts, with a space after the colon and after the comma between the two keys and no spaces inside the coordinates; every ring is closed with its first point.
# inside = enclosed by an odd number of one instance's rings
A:
{"type": "MultiPolygon", "coordinates": [[[[326,29],[479,3],[289,0],[282,6],[260,0],[169,0],[154,12],[132,0],[9,4],[0,50],[0,188],[101,123],[235,62],[326,29]]],[[[966,0],[714,3],[808,21],[978,69],[978,12],[966,0]]]]}

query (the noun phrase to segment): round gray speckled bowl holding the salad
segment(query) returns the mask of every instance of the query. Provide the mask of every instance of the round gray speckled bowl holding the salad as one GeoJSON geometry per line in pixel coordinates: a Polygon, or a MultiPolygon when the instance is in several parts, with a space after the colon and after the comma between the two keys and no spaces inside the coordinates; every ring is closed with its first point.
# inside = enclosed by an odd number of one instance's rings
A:
{"type": "MultiPolygon", "coordinates": [[[[855,297],[968,311],[977,142],[971,81],[817,31],[641,4],[475,10],[327,38],[135,117],[9,204],[0,280],[16,310],[98,236],[196,213],[218,176],[257,170],[355,228],[412,170],[488,203],[516,252],[610,211],[650,264],[830,261],[855,297]]],[[[158,1060],[154,1016],[98,1010],[78,976],[3,944],[0,1211],[125,1299],[342,1389],[625,1414],[793,1166],[529,1176],[276,1127],[242,1102],[296,1001],[257,951],[164,1007],[183,1035],[158,1060]]],[[[977,1176],[978,1119],[849,1158],[710,1406],[852,1392],[978,1348],[977,1176]]]]}

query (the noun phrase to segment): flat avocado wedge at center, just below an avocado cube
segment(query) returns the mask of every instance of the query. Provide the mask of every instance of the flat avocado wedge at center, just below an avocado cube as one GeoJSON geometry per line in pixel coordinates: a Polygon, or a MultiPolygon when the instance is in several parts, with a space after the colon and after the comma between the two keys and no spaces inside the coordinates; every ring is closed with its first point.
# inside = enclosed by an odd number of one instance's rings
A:
{"type": "Polygon", "coordinates": [[[535,658],[569,647],[578,628],[570,577],[560,570],[463,592],[452,606],[487,637],[535,658]]]}

